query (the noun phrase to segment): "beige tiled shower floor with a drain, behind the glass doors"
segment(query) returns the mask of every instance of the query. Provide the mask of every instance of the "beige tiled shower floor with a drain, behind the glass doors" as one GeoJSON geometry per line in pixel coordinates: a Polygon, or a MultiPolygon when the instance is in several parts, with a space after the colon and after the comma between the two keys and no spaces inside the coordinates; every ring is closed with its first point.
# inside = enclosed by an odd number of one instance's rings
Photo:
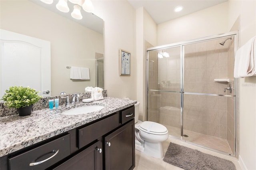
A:
{"type": "MultiPolygon", "coordinates": [[[[164,126],[168,129],[169,135],[180,138],[180,131],[181,131],[180,128],[171,127],[168,125],[164,125],[164,126]]],[[[202,146],[206,146],[214,150],[219,150],[222,152],[233,154],[228,144],[228,141],[226,139],[217,138],[214,136],[210,136],[210,135],[202,134],[198,132],[193,132],[190,130],[183,130],[183,134],[188,135],[188,137],[183,136],[183,140],[200,144],[202,146]]]]}

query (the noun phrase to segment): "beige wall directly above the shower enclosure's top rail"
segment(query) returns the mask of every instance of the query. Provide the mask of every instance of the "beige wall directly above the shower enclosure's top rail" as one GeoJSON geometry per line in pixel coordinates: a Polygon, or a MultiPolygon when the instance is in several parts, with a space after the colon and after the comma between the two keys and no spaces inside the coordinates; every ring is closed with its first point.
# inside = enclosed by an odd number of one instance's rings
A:
{"type": "Polygon", "coordinates": [[[182,42],[228,32],[228,2],[158,24],[157,44],[182,42]]]}

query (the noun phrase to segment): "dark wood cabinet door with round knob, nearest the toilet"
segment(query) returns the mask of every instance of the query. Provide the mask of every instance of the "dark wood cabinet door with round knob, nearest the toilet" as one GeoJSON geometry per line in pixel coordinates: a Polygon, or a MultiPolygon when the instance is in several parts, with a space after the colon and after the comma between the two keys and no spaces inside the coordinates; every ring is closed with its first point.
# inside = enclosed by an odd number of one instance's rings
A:
{"type": "Polygon", "coordinates": [[[135,167],[134,119],[105,137],[105,169],[130,170],[135,167]]]}

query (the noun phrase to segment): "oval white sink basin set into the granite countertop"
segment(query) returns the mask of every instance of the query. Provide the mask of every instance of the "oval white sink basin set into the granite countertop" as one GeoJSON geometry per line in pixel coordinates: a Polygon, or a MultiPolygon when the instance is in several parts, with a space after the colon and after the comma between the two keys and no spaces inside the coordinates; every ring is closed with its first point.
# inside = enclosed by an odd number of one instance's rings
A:
{"type": "Polygon", "coordinates": [[[80,114],[86,114],[86,113],[99,111],[100,109],[103,109],[103,108],[104,108],[104,106],[100,106],[100,105],[83,106],[83,107],[76,107],[76,108],[70,109],[68,111],[64,111],[61,114],[62,115],[80,115],[80,114]]]}

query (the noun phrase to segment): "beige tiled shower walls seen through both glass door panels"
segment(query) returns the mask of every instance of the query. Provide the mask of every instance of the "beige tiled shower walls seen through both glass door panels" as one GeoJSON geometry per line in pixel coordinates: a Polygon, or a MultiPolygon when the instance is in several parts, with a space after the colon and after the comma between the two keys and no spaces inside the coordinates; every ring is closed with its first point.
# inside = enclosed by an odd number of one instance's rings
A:
{"type": "MultiPolygon", "coordinates": [[[[234,39],[225,45],[221,38],[185,45],[184,91],[191,93],[224,93],[228,83],[214,79],[227,79],[233,83],[234,49],[229,48],[234,39]]],[[[232,44],[233,46],[233,44],[232,44]]],[[[157,59],[157,52],[150,53],[154,68],[149,70],[150,89],[180,91],[180,48],[166,49],[168,58],[157,59]],[[158,61],[158,63],[157,63],[158,61]],[[157,70],[157,71],[156,71],[157,70]],[[156,87],[157,85],[157,87],[156,87]]],[[[159,52],[159,51],[158,51],[159,52]]],[[[148,120],[180,128],[180,94],[150,92],[148,120]],[[166,107],[168,106],[168,107],[166,107]],[[169,110],[168,110],[169,109],[169,110]],[[152,119],[150,119],[152,118],[152,119]]],[[[184,129],[216,136],[234,143],[234,99],[232,97],[184,94],[184,129]]],[[[234,145],[234,144],[233,144],[234,145]]]]}

